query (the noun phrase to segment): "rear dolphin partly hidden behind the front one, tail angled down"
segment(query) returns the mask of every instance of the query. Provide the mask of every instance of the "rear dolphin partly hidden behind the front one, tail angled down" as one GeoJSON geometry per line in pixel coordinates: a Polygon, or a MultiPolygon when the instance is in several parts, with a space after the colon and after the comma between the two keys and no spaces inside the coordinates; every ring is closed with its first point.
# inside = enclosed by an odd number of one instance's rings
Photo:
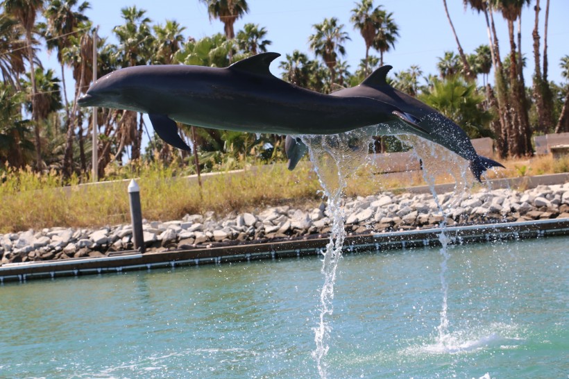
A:
{"type": "MultiPolygon", "coordinates": [[[[400,119],[407,119],[409,122],[419,126],[419,128],[414,128],[412,133],[444,146],[468,160],[470,162],[470,171],[478,181],[482,181],[480,176],[486,169],[504,167],[494,160],[478,155],[468,135],[453,121],[418,99],[391,87],[387,83],[387,73],[392,68],[389,65],[382,66],[373,71],[361,84],[333,92],[331,96],[362,96],[396,106],[403,112],[400,119]]],[[[398,122],[398,120],[387,121],[379,128],[371,129],[370,133],[375,133],[375,135],[405,134],[405,130],[393,125],[398,122]]],[[[289,157],[289,169],[294,169],[296,163],[307,151],[307,147],[303,145],[300,138],[287,136],[285,146],[287,157],[289,157]]]]}

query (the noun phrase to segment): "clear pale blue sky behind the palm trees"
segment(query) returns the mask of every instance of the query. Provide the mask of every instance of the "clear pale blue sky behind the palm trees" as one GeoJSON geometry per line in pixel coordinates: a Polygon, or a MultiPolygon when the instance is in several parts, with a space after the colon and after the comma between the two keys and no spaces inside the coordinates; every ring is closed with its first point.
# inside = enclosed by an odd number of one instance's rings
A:
{"type": "MultiPolygon", "coordinates": [[[[486,24],[483,15],[477,15],[472,10],[464,10],[462,1],[448,0],[452,22],[464,50],[474,51],[480,44],[488,44],[486,24]]],[[[527,58],[525,69],[526,83],[529,84],[534,71],[532,49],[532,29],[534,11],[532,6],[523,11],[522,51],[527,58]]],[[[541,32],[543,37],[543,17],[545,15],[545,0],[541,1],[541,32]]],[[[92,0],[91,9],[87,15],[95,25],[100,26],[100,35],[112,37],[112,28],[122,24],[121,8],[136,3],[138,8],[146,10],[146,15],[155,23],[164,23],[165,19],[175,19],[186,27],[185,36],[196,39],[223,32],[223,24],[212,20],[207,15],[203,3],[198,0],[92,0]]],[[[364,58],[364,41],[350,24],[350,10],[354,8],[351,0],[248,0],[250,11],[235,24],[238,31],[245,23],[253,22],[264,26],[267,38],[273,42],[270,51],[291,53],[294,49],[309,53],[308,36],[313,33],[312,24],[321,22],[325,17],[337,17],[351,41],[346,42],[347,54],[343,58],[348,61],[350,70],[355,71],[359,60],[364,58]]],[[[407,69],[410,65],[419,65],[424,74],[436,74],[437,57],[443,56],[445,50],[457,51],[457,46],[450,31],[445,16],[442,0],[383,0],[375,1],[382,4],[386,10],[393,12],[394,19],[400,28],[400,37],[395,50],[384,56],[387,64],[393,65],[395,71],[407,69]]],[[[548,33],[548,58],[550,80],[560,83],[561,69],[559,60],[569,54],[569,15],[568,0],[551,0],[550,22],[548,33]]],[[[502,58],[509,51],[507,26],[501,15],[495,15],[496,26],[500,39],[502,58]]],[[[542,44],[543,49],[543,44],[542,44]]],[[[379,55],[372,51],[375,55],[379,55]]],[[[58,67],[55,56],[49,58],[48,66],[58,67]]],[[[58,72],[59,70],[56,70],[58,72]]],[[[278,63],[271,66],[273,74],[280,74],[278,63]]]]}

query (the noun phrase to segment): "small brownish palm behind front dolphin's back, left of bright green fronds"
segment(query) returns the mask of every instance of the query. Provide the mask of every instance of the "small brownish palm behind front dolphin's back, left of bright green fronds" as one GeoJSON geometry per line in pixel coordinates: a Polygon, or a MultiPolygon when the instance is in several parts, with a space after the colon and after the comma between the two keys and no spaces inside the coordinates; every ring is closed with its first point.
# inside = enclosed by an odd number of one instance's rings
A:
{"type": "Polygon", "coordinates": [[[153,54],[154,65],[171,65],[175,60],[174,56],[182,47],[185,26],[180,26],[178,22],[166,20],[166,24],[153,26],[155,33],[155,53],[153,54]]]}

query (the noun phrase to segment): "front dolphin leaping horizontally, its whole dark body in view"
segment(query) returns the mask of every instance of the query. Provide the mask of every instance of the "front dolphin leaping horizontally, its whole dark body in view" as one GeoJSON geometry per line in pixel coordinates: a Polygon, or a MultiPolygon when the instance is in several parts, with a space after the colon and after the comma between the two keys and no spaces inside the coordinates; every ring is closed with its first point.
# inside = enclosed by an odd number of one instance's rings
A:
{"type": "Polygon", "coordinates": [[[148,113],[158,136],[189,146],[175,121],[207,128],[285,135],[337,134],[401,120],[406,133],[428,134],[398,107],[365,96],[330,96],[276,78],[278,53],[260,53],[229,67],[136,66],[107,74],[78,100],[80,106],[148,113]]]}

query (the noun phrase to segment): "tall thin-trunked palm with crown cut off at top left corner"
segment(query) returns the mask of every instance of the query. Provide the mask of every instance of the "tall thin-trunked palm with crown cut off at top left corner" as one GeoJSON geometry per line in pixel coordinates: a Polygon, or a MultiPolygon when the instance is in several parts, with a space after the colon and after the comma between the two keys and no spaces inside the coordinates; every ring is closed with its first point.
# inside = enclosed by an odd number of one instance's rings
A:
{"type": "Polygon", "coordinates": [[[40,126],[38,124],[37,106],[35,96],[37,87],[35,85],[35,65],[33,53],[33,28],[35,26],[35,17],[37,12],[42,10],[43,0],[4,0],[1,4],[9,15],[17,19],[24,31],[26,31],[26,45],[28,50],[28,62],[30,64],[30,76],[32,81],[32,119],[34,121],[35,134],[35,159],[36,168],[42,169],[42,142],[40,140],[40,126]]]}

